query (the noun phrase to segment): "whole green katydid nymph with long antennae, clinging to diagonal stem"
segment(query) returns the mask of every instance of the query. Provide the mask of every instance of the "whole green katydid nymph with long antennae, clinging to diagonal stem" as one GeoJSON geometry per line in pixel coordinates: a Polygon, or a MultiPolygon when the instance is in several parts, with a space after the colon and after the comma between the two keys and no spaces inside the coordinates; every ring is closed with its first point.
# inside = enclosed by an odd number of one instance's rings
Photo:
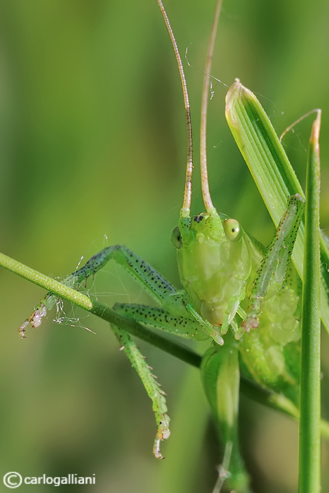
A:
{"type": "MultiPolygon", "coordinates": [[[[302,219],[304,198],[300,193],[287,196],[286,211],[267,249],[249,237],[236,219],[217,213],[212,204],[206,162],[206,115],[212,51],[221,10],[219,1],[202,97],[200,166],[205,212],[191,215],[193,146],[188,93],[178,47],[161,0],[158,3],[178,62],[186,110],[188,158],[184,200],[178,226],[171,235],[173,245],[178,249],[178,269],[184,289],[175,289],[123,245],[104,248],[62,282],[78,289],[86,278],[113,259],[158,303],[158,306],[117,303],[114,311],[149,328],[196,340],[209,339],[210,348],[202,360],[202,379],[219,424],[226,455],[217,492],[225,479],[230,488],[246,493],[250,491],[249,477],[239,453],[237,432],[240,371],[260,387],[280,392],[293,405],[298,404],[301,282],[291,255],[302,219]]],[[[229,109],[241,90],[243,86],[236,80],[228,91],[229,109]]],[[[47,293],[19,328],[21,336],[25,337],[28,324],[39,326],[42,317],[57,301],[56,295],[47,293]]],[[[160,443],[170,434],[165,394],[132,337],[120,326],[112,328],[153,401],[158,424],[154,455],[161,459],[160,443]]]]}

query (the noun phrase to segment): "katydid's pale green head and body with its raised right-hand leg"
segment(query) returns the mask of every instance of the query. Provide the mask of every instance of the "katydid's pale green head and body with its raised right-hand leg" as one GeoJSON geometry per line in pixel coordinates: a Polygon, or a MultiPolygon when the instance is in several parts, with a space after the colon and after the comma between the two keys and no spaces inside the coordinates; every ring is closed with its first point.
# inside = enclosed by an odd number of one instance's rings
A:
{"type": "Polygon", "coordinates": [[[173,233],[181,282],[193,306],[221,335],[232,327],[241,339],[246,376],[277,391],[298,383],[286,364],[289,343],[295,353],[300,339],[300,283],[287,245],[295,239],[303,208],[302,197],[291,197],[265,256],[235,219],[222,219],[216,211],[181,219],[173,233]]]}

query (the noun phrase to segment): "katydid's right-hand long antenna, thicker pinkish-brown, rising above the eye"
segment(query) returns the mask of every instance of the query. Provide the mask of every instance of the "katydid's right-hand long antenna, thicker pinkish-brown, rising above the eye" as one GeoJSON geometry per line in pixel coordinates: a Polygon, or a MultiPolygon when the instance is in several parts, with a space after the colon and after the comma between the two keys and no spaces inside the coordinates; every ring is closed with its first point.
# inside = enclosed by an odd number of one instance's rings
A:
{"type": "Polygon", "coordinates": [[[206,59],[206,67],[204,69],[204,88],[202,89],[202,105],[201,105],[201,123],[200,123],[200,168],[201,168],[201,186],[202,196],[204,197],[204,206],[206,211],[210,212],[214,208],[212,205],[209,183],[208,183],[208,168],[207,168],[207,109],[208,109],[208,94],[210,86],[210,70],[212,63],[212,55],[214,53],[215,38],[217,33],[217,25],[219,14],[221,13],[221,5],[223,0],[218,0],[215,10],[215,17],[212,21],[210,41],[206,59]]]}

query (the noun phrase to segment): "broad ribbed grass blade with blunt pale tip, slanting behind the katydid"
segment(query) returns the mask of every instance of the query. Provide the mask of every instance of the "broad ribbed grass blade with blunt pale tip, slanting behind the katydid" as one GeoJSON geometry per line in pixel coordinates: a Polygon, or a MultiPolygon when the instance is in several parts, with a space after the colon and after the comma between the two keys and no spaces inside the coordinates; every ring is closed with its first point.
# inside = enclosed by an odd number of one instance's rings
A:
{"type": "MultiPolygon", "coordinates": [[[[230,86],[226,96],[226,119],[273,223],[278,226],[287,197],[295,193],[304,197],[304,192],[260,102],[238,80],[230,86]]],[[[328,243],[321,234],[323,266],[329,265],[328,251],[328,243]]],[[[293,261],[301,278],[303,252],[304,223],[300,226],[293,249],[293,261]]],[[[329,332],[329,274],[325,267],[321,274],[321,318],[329,332]]]]}

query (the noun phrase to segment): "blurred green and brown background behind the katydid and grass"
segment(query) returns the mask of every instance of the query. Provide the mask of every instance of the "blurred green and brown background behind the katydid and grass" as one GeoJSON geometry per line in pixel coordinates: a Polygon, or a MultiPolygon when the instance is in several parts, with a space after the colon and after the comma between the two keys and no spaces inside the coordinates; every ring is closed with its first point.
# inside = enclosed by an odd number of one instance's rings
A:
{"type": "MultiPolygon", "coordinates": [[[[184,63],[195,136],[193,213],[199,213],[199,105],[215,0],[167,0],[165,7],[192,66],[184,63]]],[[[224,1],[212,67],[226,84],[239,77],[252,89],[278,133],[322,108],[327,232],[328,22],[326,0],[224,1]]],[[[106,245],[124,243],[179,287],[169,235],[182,204],[186,130],[156,0],[2,0],[0,43],[0,250],[63,277],[82,256],[86,261],[106,245]]],[[[217,84],[214,91],[213,202],[269,243],[273,225],[224,118],[225,88],[217,84]]],[[[285,141],[303,184],[309,132],[310,119],[285,141]]],[[[172,436],[162,447],[166,460],[156,461],[149,399],[108,325],[65,305],[62,324],[51,320],[53,311],[22,341],[17,328],[43,291],[3,269],[0,276],[0,477],[12,470],[96,474],[95,486],[70,491],[210,492],[220,456],[197,370],[140,344],[168,394],[172,436]]],[[[88,287],[111,305],[149,302],[115,266],[88,287]]],[[[296,424],[242,398],[241,427],[255,493],[295,492],[296,424]]],[[[326,466],[328,446],[323,460],[326,466]]]]}

